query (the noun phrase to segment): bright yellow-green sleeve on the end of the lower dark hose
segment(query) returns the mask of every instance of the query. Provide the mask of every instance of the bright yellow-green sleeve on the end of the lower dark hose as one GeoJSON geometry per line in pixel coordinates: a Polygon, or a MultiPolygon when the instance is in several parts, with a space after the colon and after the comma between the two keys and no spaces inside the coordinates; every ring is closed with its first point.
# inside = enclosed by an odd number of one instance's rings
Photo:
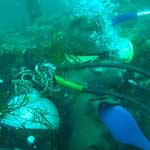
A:
{"type": "Polygon", "coordinates": [[[76,91],[80,91],[80,92],[83,91],[83,86],[81,86],[81,85],[78,85],[78,84],[70,82],[70,81],[66,81],[65,79],[63,79],[60,76],[55,76],[55,79],[56,79],[56,82],[61,86],[64,86],[64,87],[67,87],[67,88],[70,88],[70,89],[73,89],[76,91]]]}

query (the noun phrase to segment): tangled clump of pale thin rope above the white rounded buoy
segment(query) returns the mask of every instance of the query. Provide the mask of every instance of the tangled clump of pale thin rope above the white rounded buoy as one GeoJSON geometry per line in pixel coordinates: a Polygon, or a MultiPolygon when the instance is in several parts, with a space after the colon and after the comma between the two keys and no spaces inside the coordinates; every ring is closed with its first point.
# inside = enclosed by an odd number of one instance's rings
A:
{"type": "MultiPolygon", "coordinates": [[[[37,64],[34,70],[22,68],[16,75],[14,84],[15,95],[29,94],[33,90],[33,83],[42,88],[40,93],[48,92],[52,94],[60,89],[55,86],[54,76],[56,67],[51,63],[37,64]]],[[[35,87],[36,88],[36,87],[35,87]]]]}

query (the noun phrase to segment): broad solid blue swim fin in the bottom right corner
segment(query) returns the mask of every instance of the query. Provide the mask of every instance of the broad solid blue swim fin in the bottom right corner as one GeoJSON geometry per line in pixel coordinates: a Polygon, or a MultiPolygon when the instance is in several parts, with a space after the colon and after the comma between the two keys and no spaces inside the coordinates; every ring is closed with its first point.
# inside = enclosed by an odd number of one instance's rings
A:
{"type": "Polygon", "coordinates": [[[119,142],[150,150],[148,140],[141,132],[135,119],[123,107],[119,105],[106,107],[99,111],[99,117],[119,142]]]}

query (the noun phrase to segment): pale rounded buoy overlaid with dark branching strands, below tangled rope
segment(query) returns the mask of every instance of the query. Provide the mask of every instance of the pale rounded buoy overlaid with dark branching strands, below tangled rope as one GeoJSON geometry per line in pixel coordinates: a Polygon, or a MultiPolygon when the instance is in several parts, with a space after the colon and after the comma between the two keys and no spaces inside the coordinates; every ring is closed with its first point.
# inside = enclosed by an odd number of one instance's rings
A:
{"type": "Polygon", "coordinates": [[[1,119],[3,124],[25,129],[57,130],[59,128],[60,118],[57,108],[49,99],[41,98],[37,91],[16,96],[8,105],[12,111],[1,119]]]}

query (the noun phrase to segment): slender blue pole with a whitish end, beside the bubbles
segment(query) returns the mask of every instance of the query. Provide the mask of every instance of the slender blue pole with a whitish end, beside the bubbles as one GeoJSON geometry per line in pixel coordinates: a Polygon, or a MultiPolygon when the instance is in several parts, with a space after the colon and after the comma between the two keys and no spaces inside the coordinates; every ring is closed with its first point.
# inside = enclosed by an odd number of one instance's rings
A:
{"type": "Polygon", "coordinates": [[[119,15],[112,19],[112,25],[118,25],[120,23],[136,19],[141,16],[150,15],[150,11],[131,12],[123,15],[119,15]]]}

